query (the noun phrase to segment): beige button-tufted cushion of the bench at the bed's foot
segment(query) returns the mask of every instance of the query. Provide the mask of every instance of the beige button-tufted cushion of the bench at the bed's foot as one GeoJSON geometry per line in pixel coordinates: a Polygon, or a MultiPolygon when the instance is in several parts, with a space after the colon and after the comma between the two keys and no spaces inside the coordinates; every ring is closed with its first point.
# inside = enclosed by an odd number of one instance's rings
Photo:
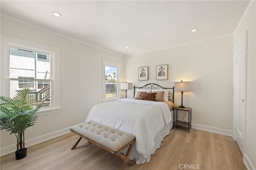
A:
{"type": "Polygon", "coordinates": [[[118,131],[94,121],[80,123],[70,127],[70,130],[88,137],[115,152],[135,138],[134,135],[118,131]]]}

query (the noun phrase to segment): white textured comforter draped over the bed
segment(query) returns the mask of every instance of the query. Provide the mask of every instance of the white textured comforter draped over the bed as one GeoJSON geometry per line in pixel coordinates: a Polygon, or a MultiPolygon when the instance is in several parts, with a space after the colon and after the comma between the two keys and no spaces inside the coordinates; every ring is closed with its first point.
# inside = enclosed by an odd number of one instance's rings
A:
{"type": "Polygon", "coordinates": [[[136,149],[145,159],[154,154],[154,137],[172,120],[164,102],[119,99],[92,107],[86,121],[95,121],[136,137],[136,149]]]}

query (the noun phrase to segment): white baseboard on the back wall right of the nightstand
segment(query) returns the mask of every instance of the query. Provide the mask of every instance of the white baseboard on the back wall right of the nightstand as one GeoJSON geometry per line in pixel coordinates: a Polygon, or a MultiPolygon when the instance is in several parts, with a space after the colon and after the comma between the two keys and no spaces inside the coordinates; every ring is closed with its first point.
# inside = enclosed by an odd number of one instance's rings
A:
{"type": "Polygon", "coordinates": [[[211,126],[206,126],[206,125],[199,125],[195,123],[191,123],[191,127],[194,129],[199,129],[203,131],[208,131],[208,132],[213,132],[213,133],[219,133],[222,135],[228,135],[228,136],[233,136],[233,131],[228,130],[228,129],[221,129],[218,127],[211,127],[211,126]]]}

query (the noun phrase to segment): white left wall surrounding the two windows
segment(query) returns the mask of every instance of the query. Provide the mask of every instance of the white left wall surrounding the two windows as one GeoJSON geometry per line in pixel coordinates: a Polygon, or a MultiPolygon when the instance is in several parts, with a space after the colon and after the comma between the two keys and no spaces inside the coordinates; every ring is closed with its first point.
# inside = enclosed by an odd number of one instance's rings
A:
{"type": "MultiPolygon", "coordinates": [[[[102,102],[103,59],[124,65],[122,56],[5,17],[1,17],[1,34],[60,49],[61,111],[40,115],[25,132],[26,146],[68,132],[68,127],[85,120],[94,104],[102,102]]],[[[14,151],[15,135],[0,133],[1,155],[14,151]]]]}

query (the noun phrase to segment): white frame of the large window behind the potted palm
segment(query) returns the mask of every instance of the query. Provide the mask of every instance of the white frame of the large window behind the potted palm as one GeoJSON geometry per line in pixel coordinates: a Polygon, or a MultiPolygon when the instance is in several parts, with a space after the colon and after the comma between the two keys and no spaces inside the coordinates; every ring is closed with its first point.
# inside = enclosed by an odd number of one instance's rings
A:
{"type": "Polygon", "coordinates": [[[44,107],[38,111],[38,115],[60,112],[60,49],[41,45],[6,35],[1,35],[1,59],[0,59],[0,94],[9,96],[9,58],[10,47],[26,49],[40,53],[50,54],[51,64],[51,107],[44,107]]]}

